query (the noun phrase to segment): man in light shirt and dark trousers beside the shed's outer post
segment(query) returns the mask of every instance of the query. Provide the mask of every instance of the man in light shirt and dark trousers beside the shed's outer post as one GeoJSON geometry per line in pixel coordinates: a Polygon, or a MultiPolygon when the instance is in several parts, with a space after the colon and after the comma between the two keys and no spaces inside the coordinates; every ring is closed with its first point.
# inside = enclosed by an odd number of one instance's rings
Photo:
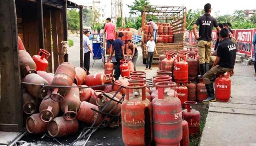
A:
{"type": "Polygon", "coordinates": [[[84,31],[83,35],[83,51],[84,51],[84,59],[83,59],[83,67],[87,70],[87,75],[89,73],[90,69],[90,53],[93,54],[93,49],[91,48],[91,43],[90,43],[90,31],[86,30],[84,31]]]}

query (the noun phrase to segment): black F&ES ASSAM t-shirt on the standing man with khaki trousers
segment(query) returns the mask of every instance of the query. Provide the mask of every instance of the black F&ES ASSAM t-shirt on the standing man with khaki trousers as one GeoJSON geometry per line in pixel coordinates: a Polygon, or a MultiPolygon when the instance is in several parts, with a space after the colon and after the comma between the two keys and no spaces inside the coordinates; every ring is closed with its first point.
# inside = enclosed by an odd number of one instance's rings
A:
{"type": "Polygon", "coordinates": [[[217,20],[210,14],[204,14],[196,20],[195,24],[199,26],[199,40],[212,41],[211,32],[213,26],[218,27],[217,20]]]}

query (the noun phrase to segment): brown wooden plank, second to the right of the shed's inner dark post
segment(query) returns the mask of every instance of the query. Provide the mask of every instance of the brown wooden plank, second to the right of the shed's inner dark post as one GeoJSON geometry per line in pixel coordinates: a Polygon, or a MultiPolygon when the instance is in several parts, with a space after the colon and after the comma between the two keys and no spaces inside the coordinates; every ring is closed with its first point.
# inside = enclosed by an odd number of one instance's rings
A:
{"type": "Polygon", "coordinates": [[[56,13],[57,9],[51,9],[51,23],[52,23],[52,46],[53,46],[53,61],[54,72],[59,66],[59,50],[58,50],[58,38],[57,38],[57,26],[56,26],[56,13]]]}

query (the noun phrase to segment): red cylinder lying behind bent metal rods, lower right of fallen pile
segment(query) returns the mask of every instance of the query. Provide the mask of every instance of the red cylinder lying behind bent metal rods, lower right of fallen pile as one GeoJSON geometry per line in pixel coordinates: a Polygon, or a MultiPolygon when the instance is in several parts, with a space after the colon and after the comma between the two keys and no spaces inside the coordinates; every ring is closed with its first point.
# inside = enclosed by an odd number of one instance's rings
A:
{"type": "Polygon", "coordinates": [[[93,111],[91,108],[100,111],[97,105],[82,101],[76,118],[86,124],[92,125],[94,123],[94,126],[98,126],[103,117],[99,112],[93,111]]]}

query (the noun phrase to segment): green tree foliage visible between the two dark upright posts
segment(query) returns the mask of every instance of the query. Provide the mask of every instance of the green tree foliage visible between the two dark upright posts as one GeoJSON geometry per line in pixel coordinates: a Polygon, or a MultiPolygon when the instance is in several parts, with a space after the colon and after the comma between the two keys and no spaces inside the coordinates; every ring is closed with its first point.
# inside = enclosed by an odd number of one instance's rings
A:
{"type": "Polygon", "coordinates": [[[79,30],[79,12],[76,9],[70,9],[67,12],[68,29],[75,31],[79,30]]]}

